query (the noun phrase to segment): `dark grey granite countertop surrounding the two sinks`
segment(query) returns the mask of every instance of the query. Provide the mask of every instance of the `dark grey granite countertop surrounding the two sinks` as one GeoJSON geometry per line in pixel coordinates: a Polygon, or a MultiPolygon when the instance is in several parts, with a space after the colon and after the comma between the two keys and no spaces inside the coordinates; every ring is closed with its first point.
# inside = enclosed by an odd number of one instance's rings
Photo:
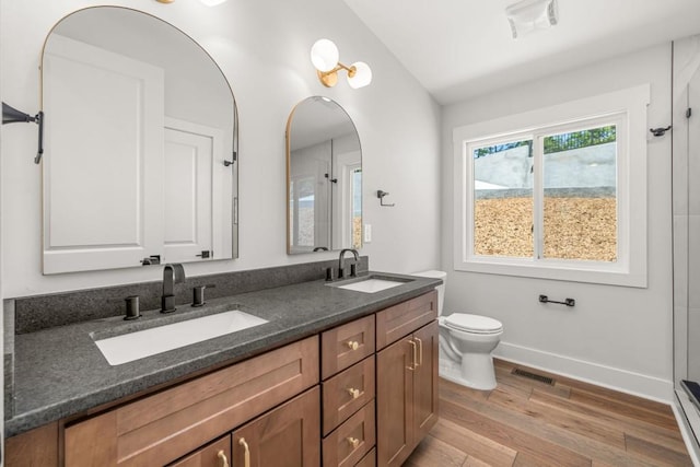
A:
{"type": "Polygon", "coordinates": [[[369,275],[407,282],[364,293],[317,280],[210,300],[200,308],[180,305],[170,315],[149,311],[135,322],[117,316],[18,335],[10,395],[13,411],[5,413],[5,436],[247,359],[421,295],[442,283],[440,279],[413,276],[369,275]],[[116,366],[107,363],[92,337],[234,308],[269,323],[116,366]]]}

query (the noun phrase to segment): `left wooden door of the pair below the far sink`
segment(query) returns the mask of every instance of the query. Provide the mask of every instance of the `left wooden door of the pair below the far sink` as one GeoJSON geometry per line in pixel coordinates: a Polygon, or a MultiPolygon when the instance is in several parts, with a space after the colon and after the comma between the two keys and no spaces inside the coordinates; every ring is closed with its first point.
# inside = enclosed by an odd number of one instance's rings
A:
{"type": "Polygon", "coordinates": [[[400,466],[410,455],[413,346],[410,336],[376,354],[377,465],[400,466]]]}

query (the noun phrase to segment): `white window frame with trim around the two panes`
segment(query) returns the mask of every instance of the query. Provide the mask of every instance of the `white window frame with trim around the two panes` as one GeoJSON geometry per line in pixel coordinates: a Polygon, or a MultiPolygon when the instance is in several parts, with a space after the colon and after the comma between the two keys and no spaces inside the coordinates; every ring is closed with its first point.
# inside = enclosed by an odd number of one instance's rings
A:
{"type": "MultiPolygon", "coordinates": [[[[454,267],[455,270],[645,288],[646,279],[646,107],[649,84],[552,107],[455,128],[454,267]],[[542,135],[575,129],[582,122],[617,126],[617,260],[515,258],[474,254],[474,157],[470,147],[533,137],[534,156],[541,159],[542,135]]],[[[541,171],[541,161],[536,160],[541,171]]],[[[536,177],[535,179],[541,177],[536,177]]],[[[533,187],[539,197],[541,184],[533,187]]],[[[535,199],[537,201],[537,199],[535,199]]],[[[541,215],[533,221],[541,229],[541,215]]],[[[541,245],[534,245],[541,252],[541,245]]]]}

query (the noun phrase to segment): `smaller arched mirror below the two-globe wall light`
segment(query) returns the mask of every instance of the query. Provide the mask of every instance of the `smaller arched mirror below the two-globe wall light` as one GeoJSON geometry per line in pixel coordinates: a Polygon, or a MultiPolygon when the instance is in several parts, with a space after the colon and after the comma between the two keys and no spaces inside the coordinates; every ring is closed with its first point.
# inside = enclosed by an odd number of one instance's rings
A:
{"type": "Polygon", "coordinates": [[[308,97],[289,117],[287,194],[290,255],[362,246],[360,137],[328,97],[308,97]]]}

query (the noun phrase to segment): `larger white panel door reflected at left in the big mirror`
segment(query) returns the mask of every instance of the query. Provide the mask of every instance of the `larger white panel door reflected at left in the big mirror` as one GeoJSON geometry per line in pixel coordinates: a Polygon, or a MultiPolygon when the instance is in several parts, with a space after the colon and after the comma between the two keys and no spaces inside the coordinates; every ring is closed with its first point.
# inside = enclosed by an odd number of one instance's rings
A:
{"type": "Polygon", "coordinates": [[[139,266],[163,237],[163,70],[52,35],[44,273],[139,266]]]}

